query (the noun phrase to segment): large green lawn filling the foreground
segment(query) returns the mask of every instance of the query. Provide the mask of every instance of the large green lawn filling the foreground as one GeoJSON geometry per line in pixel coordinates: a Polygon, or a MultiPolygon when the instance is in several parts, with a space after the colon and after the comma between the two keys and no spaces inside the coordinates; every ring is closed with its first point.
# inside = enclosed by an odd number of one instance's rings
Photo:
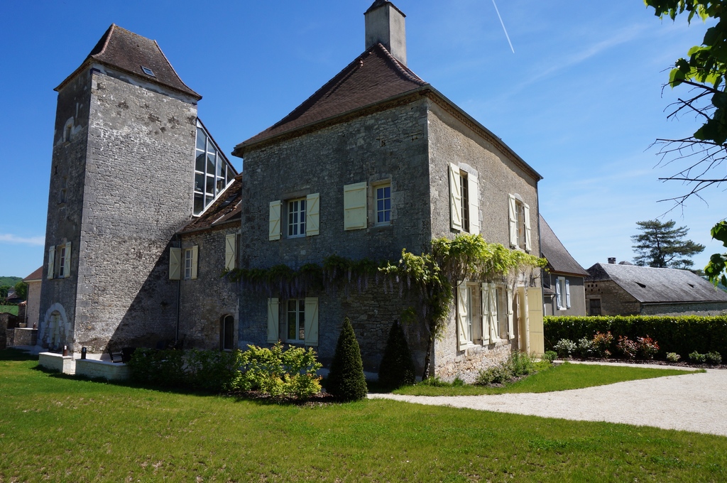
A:
{"type": "Polygon", "coordinates": [[[262,404],[23,359],[0,351],[0,482],[727,480],[720,436],[385,400],[262,404]]]}

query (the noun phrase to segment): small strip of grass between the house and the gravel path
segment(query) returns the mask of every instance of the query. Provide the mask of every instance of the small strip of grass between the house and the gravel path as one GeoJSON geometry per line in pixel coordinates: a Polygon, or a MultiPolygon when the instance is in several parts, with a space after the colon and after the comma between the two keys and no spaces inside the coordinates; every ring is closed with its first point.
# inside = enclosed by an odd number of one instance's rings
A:
{"type": "Polygon", "coordinates": [[[507,384],[502,388],[485,386],[430,386],[417,384],[394,391],[394,394],[409,396],[474,396],[478,394],[543,393],[565,391],[566,389],[589,388],[626,380],[661,378],[667,375],[686,375],[704,370],[651,369],[649,367],[623,367],[597,364],[571,364],[541,370],[533,375],[507,384]]]}

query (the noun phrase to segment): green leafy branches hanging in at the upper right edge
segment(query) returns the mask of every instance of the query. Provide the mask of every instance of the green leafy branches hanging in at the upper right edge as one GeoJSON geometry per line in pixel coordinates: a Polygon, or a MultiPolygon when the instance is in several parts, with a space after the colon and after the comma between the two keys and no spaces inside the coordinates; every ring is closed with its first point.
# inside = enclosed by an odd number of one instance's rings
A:
{"type": "MultiPolygon", "coordinates": [[[[690,187],[686,194],[671,199],[683,204],[692,195],[701,199],[705,188],[727,181],[724,169],[718,169],[727,160],[727,22],[722,18],[727,15],[727,0],[644,0],[644,4],[654,7],[658,17],[668,15],[675,20],[687,12],[688,23],[694,15],[703,21],[715,20],[704,33],[702,45],[688,50],[688,60],[676,61],[668,82],[672,88],[685,84],[690,90],[674,104],[667,118],[692,113],[703,124],[691,136],[656,140],[661,145],[662,164],[675,163],[678,169],[660,179],[681,181],[690,187]]],[[[723,220],[712,228],[712,238],[725,241],[725,231],[723,220]]],[[[712,255],[704,273],[715,285],[727,281],[725,255],[712,255]]]]}

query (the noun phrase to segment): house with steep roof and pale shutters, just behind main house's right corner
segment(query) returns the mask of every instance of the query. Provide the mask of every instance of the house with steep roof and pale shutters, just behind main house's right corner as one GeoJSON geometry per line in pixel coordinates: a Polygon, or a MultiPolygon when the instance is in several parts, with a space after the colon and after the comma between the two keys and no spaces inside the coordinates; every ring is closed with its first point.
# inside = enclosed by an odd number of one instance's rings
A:
{"type": "Polygon", "coordinates": [[[543,314],[584,316],[584,279],[588,272],[571,256],[550,225],[540,216],[540,253],[547,260],[543,271],[543,314]]]}

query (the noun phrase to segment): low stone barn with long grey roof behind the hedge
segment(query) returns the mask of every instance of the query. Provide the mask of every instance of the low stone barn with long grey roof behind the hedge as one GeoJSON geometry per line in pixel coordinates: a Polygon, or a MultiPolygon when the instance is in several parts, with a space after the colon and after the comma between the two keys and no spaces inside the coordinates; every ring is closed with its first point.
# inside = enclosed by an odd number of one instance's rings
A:
{"type": "Polygon", "coordinates": [[[727,314],[727,292],[688,270],[596,263],[585,279],[590,315],[727,314]]]}

